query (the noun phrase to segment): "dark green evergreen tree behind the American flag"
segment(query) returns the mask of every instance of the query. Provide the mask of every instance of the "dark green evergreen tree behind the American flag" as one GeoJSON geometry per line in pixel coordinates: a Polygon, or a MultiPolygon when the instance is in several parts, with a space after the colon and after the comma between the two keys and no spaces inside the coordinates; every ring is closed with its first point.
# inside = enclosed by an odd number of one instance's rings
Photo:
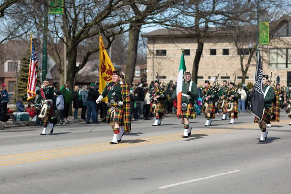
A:
{"type": "MultiPolygon", "coordinates": [[[[30,49],[28,49],[26,51],[25,56],[23,56],[23,58],[21,59],[20,70],[18,74],[18,97],[23,98],[23,100],[27,99],[27,83],[28,83],[28,74],[29,74],[29,65],[30,65],[30,54],[31,54],[30,49]]],[[[39,77],[37,77],[37,81],[38,80],[39,80],[39,77]]],[[[16,90],[16,86],[15,86],[15,90],[16,90]]]]}

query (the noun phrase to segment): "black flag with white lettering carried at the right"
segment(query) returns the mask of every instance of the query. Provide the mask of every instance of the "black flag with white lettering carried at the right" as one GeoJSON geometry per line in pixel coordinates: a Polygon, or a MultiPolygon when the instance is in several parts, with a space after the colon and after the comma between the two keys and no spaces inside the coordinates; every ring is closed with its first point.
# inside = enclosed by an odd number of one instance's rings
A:
{"type": "Polygon", "coordinates": [[[257,67],[254,91],[252,94],[251,113],[258,117],[259,120],[261,120],[264,113],[263,69],[259,49],[257,53],[257,67]]]}

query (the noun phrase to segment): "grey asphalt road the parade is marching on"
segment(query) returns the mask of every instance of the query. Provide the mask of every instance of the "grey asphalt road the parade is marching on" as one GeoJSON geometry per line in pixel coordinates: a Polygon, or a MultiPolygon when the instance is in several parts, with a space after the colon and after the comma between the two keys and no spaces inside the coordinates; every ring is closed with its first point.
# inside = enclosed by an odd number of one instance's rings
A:
{"type": "Polygon", "coordinates": [[[191,120],[192,135],[166,117],[132,122],[132,133],[110,145],[107,124],[0,130],[1,194],[288,194],[291,193],[291,126],[281,122],[260,130],[243,114],[229,125],[217,115],[191,120]]]}

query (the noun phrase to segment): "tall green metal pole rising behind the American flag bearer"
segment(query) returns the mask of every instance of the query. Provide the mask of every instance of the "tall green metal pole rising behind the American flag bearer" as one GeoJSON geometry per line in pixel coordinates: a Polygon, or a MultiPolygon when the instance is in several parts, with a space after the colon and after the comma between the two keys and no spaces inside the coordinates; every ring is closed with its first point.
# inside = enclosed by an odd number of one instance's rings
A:
{"type": "Polygon", "coordinates": [[[42,64],[42,81],[47,77],[47,64],[48,64],[48,1],[45,1],[45,20],[44,20],[44,39],[43,39],[43,64],[42,64]]]}

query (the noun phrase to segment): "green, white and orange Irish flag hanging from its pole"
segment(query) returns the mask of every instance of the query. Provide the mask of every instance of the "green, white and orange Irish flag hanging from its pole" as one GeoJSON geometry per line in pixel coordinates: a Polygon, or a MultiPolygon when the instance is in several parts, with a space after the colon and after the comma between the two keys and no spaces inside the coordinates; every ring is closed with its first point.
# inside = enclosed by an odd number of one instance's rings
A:
{"type": "Polygon", "coordinates": [[[179,73],[178,73],[178,79],[177,79],[177,116],[179,117],[179,114],[182,113],[181,111],[181,104],[182,104],[182,87],[183,87],[183,77],[184,72],[186,71],[186,65],[185,65],[185,59],[184,59],[184,50],[182,51],[181,60],[180,60],[180,66],[179,66],[179,73]]]}

